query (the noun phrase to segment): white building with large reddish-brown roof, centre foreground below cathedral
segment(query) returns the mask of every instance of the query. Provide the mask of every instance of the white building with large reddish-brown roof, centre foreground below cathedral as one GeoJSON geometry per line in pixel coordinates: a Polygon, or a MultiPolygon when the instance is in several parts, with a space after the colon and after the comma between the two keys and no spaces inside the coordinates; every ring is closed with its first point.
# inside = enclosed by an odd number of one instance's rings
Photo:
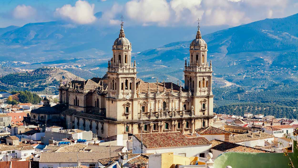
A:
{"type": "Polygon", "coordinates": [[[173,152],[174,155],[191,157],[205,156],[210,148],[211,143],[205,137],[185,137],[179,131],[133,135],[133,153],[173,152]]]}

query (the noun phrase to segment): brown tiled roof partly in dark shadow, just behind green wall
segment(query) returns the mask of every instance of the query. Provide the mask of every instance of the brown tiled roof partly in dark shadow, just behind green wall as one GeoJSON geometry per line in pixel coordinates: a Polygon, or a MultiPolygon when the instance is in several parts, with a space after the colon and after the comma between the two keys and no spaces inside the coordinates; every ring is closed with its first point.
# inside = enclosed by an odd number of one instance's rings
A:
{"type": "Polygon", "coordinates": [[[272,153],[266,150],[243,146],[236,143],[226,142],[222,140],[211,140],[212,148],[221,152],[257,152],[257,153],[272,153]]]}

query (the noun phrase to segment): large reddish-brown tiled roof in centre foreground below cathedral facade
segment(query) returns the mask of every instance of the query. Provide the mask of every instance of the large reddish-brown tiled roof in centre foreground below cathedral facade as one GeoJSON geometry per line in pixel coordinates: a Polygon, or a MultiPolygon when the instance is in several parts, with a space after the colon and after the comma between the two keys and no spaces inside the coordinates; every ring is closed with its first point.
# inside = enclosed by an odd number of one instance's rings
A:
{"type": "MultiPolygon", "coordinates": [[[[141,134],[135,134],[134,137],[141,142],[141,134]]],[[[205,137],[185,137],[179,131],[143,133],[142,140],[147,148],[211,144],[205,137]]]]}

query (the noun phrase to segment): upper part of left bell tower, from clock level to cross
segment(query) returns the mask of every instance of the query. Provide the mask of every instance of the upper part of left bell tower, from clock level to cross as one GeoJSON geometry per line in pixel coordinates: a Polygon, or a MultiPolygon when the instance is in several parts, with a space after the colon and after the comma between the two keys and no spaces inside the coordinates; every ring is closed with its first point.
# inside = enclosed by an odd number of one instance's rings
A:
{"type": "Polygon", "coordinates": [[[131,42],[125,38],[123,22],[112,51],[113,58],[108,62],[107,71],[108,97],[115,99],[136,97],[136,62],[131,62],[131,42]]]}

